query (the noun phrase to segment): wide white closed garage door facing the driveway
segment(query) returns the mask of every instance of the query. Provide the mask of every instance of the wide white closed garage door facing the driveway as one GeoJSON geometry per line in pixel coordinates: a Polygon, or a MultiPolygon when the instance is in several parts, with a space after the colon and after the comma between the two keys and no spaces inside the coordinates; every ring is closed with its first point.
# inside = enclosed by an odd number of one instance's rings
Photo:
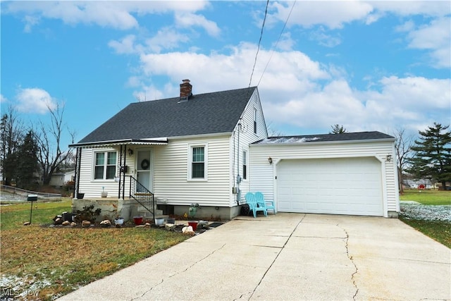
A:
{"type": "Polygon", "coordinates": [[[381,162],[376,158],[282,160],[278,211],[383,215],[381,162]]]}

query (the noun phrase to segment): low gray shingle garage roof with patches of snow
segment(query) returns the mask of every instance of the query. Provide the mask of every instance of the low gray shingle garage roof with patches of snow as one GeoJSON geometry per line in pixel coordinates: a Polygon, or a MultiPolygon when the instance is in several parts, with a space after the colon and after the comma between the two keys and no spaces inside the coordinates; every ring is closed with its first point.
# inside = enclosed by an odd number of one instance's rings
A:
{"type": "Polygon", "coordinates": [[[300,135],[300,136],[280,136],[268,137],[264,140],[254,142],[254,145],[265,144],[290,144],[304,142],[345,142],[358,140],[395,140],[395,137],[381,132],[358,132],[343,134],[322,134],[322,135],[300,135]]]}

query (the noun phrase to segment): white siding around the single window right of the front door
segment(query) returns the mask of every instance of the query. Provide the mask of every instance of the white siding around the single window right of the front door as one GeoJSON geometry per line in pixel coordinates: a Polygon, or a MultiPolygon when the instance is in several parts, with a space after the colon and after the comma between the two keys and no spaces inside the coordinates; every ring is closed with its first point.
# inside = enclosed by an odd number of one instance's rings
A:
{"type": "Polygon", "coordinates": [[[229,206],[229,142],[228,135],[171,139],[164,147],[154,148],[154,193],[168,204],[229,206]],[[205,146],[208,180],[191,180],[190,149],[205,146]],[[208,147],[207,147],[208,146],[208,147]]]}

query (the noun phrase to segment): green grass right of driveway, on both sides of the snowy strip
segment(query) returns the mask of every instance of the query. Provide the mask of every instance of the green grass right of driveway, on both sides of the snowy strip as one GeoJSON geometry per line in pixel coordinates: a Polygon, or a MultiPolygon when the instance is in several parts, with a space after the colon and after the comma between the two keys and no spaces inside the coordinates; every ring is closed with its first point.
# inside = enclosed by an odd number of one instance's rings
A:
{"type": "MultiPolygon", "coordinates": [[[[451,191],[443,190],[404,190],[400,195],[401,201],[415,201],[425,205],[451,205],[451,191]]],[[[412,226],[424,235],[437,240],[451,248],[451,223],[447,221],[424,221],[422,219],[406,219],[400,216],[400,220],[412,226]]]]}

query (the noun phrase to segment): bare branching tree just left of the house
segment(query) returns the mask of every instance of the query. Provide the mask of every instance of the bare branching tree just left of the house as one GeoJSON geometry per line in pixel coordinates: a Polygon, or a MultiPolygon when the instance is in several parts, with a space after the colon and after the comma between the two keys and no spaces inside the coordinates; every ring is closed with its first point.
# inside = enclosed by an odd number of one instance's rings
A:
{"type": "MultiPolygon", "coordinates": [[[[40,123],[37,142],[39,145],[38,161],[42,171],[43,185],[49,185],[51,175],[71,156],[70,149],[61,148],[61,135],[65,125],[63,124],[64,106],[57,104],[55,109],[48,106],[51,115],[50,125],[40,123]]],[[[68,130],[68,129],[67,129],[68,130]]],[[[71,143],[75,140],[75,132],[68,130],[71,143]]]]}

